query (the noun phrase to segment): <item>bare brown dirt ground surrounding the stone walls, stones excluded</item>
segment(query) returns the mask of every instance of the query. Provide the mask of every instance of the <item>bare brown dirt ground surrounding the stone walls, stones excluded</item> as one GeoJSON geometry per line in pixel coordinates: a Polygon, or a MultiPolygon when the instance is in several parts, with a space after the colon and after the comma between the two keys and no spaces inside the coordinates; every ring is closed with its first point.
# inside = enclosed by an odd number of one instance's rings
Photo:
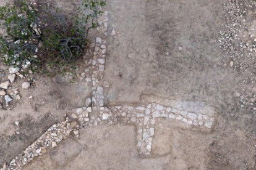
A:
{"type": "MultiPolygon", "coordinates": [[[[218,43],[220,30],[229,22],[224,6],[229,2],[243,3],[248,18],[244,25],[249,23],[241,31],[254,25],[256,39],[255,1],[111,0],[105,7],[105,105],[164,99],[205,102],[215,108],[210,131],[158,118],[151,155],[141,156],[135,126],[99,125],[82,130],[79,138],[69,137],[24,169],[256,169],[256,89],[251,85],[256,57],[252,53],[247,62],[250,74],[237,70],[231,65],[233,56],[218,43]],[[246,8],[248,4],[252,7],[246,8]],[[249,106],[241,102],[243,94],[250,96],[249,106]]],[[[66,12],[76,5],[56,3],[66,12]]],[[[93,41],[96,32],[91,36],[93,41]]],[[[92,88],[80,75],[87,62],[79,65],[75,77],[30,75],[33,86],[20,88],[22,98],[10,109],[0,109],[0,164],[11,161],[72,108],[83,107],[92,88]],[[20,121],[19,127],[15,121],[20,121]]],[[[7,73],[0,81],[6,78],[7,73]]],[[[12,89],[23,81],[17,79],[12,89]]]]}

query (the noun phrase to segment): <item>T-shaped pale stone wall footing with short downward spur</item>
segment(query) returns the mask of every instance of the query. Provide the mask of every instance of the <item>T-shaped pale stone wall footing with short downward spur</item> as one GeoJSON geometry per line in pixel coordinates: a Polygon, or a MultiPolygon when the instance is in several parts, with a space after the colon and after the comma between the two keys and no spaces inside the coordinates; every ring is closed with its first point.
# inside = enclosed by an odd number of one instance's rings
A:
{"type": "Polygon", "coordinates": [[[130,105],[100,107],[100,116],[92,114],[91,107],[77,108],[72,118],[78,118],[83,128],[97,126],[98,124],[116,123],[135,124],[137,126],[137,147],[141,155],[150,155],[151,144],[155,134],[156,118],[176,119],[191,126],[206,127],[214,123],[214,118],[201,113],[178,110],[164,107],[158,103],[147,106],[133,107],[130,105]]]}

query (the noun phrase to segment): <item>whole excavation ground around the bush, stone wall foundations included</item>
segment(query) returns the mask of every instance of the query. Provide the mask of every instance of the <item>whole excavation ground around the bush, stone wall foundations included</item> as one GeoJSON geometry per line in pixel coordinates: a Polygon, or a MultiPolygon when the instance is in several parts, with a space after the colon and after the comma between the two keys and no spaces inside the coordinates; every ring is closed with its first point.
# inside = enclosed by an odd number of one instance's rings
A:
{"type": "Polygon", "coordinates": [[[0,169],[256,169],[256,1],[103,11],[75,74],[0,89],[0,169]]]}

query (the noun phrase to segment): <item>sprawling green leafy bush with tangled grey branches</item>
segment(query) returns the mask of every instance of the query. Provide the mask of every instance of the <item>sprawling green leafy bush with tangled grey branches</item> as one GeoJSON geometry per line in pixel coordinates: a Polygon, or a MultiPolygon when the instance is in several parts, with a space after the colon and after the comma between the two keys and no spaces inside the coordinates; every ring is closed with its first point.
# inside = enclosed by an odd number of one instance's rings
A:
{"type": "Polygon", "coordinates": [[[45,8],[40,13],[25,0],[0,7],[1,25],[6,28],[6,35],[0,35],[3,62],[25,68],[30,64],[47,66],[56,72],[74,68],[88,47],[88,31],[97,26],[95,18],[105,4],[105,0],[83,0],[70,20],[59,11],[45,8]]]}

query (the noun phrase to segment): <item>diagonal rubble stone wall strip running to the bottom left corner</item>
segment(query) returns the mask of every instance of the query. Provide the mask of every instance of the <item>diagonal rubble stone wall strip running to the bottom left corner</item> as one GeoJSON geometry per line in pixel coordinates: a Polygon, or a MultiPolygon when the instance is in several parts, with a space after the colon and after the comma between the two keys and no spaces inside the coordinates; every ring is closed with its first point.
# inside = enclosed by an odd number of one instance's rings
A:
{"type": "Polygon", "coordinates": [[[79,125],[76,121],[70,122],[69,118],[61,123],[53,124],[39,139],[28,146],[23,153],[15,156],[15,158],[9,163],[4,165],[1,170],[4,169],[21,169],[25,164],[32,161],[36,156],[40,156],[47,152],[49,147],[56,147],[59,142],[66,139],[71,132],[77,133],[79,125]]]}

